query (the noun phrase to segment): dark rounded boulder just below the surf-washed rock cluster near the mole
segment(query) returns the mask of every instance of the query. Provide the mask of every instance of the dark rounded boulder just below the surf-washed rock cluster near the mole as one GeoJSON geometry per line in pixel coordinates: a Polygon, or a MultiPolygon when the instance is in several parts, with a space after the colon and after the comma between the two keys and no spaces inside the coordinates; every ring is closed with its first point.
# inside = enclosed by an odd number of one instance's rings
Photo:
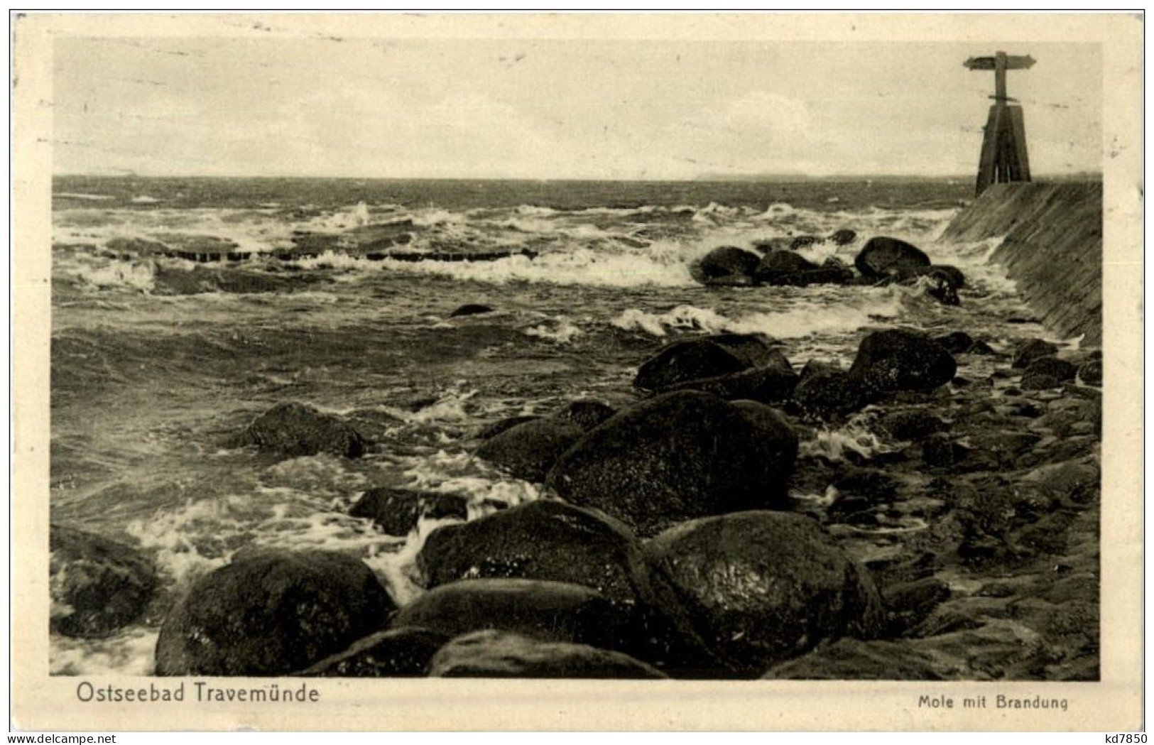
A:
{"type": "Polygon", "coordinates": [[[949,383],[957,371],[953,355],[929,337],[887,329],[865,334],[849,376],[872,398],[894,391],[928,391],[949,383]]]}

